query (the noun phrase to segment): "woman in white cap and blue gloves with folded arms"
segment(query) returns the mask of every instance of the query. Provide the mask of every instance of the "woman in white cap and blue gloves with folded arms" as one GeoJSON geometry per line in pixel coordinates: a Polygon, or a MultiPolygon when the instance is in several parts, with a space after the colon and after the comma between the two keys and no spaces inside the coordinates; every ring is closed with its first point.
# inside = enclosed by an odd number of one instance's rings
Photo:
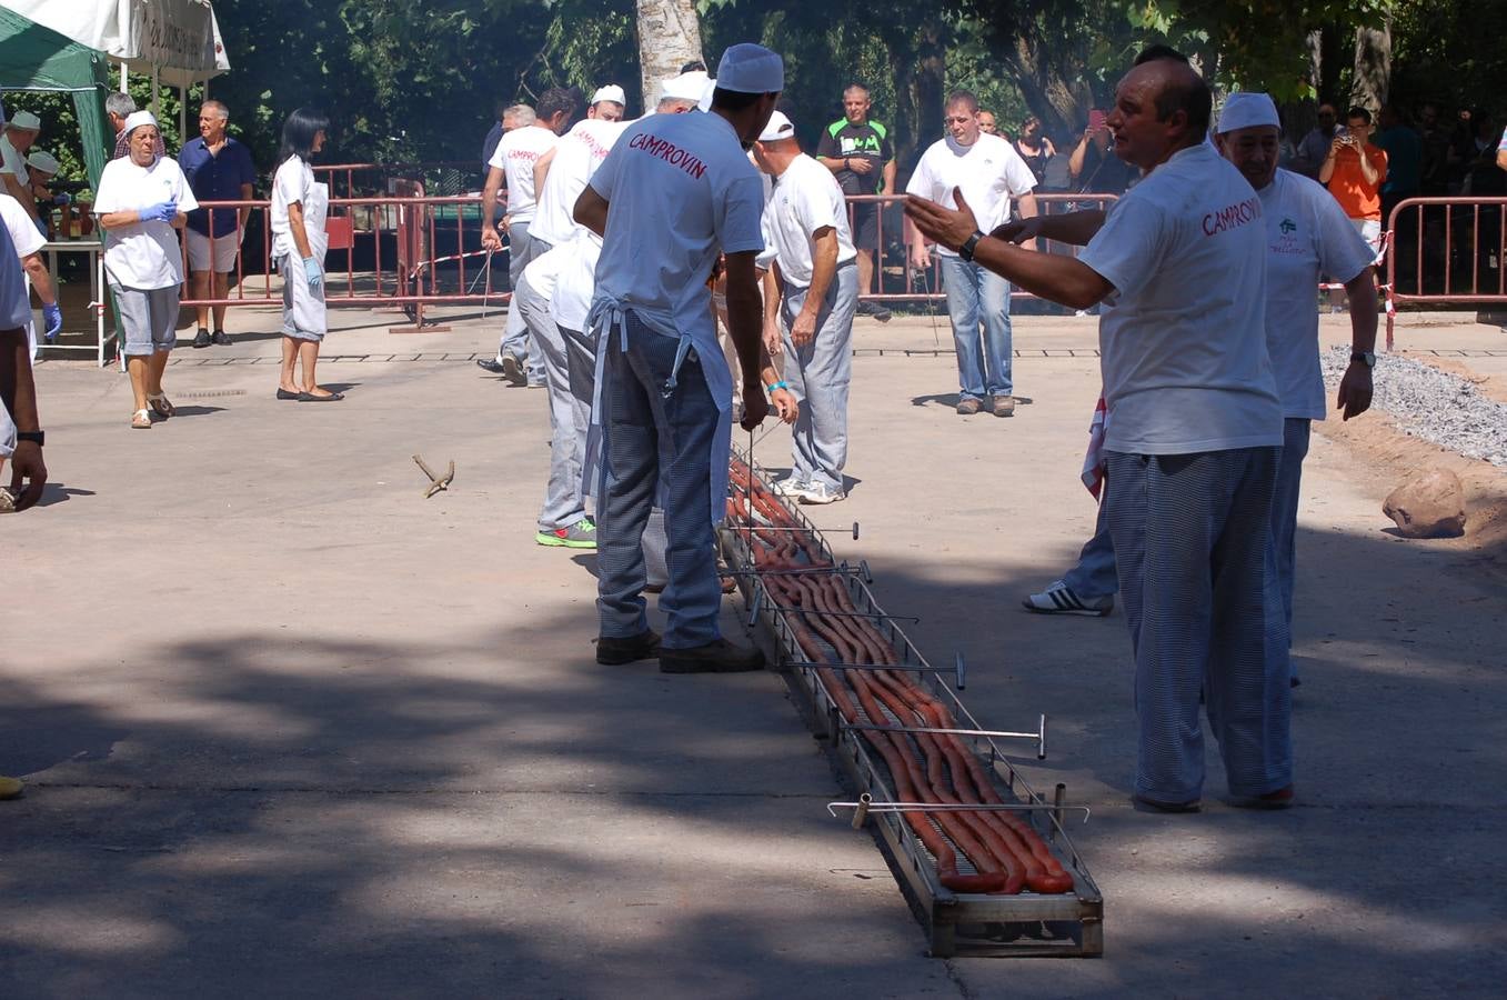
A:
{"type": "Polygon", "coordinates": [[[131,374],[131,427],[151,430],[173,404],[163,392],[167,354],[178,342],[178,290],[184,284],[178,234],[199,207],[176,160],[158,157],[157,119],[125,119],[130,154],[99,175],[93,211],[104,229],[104,270],[124,330],[121,353],[131,374]]]}

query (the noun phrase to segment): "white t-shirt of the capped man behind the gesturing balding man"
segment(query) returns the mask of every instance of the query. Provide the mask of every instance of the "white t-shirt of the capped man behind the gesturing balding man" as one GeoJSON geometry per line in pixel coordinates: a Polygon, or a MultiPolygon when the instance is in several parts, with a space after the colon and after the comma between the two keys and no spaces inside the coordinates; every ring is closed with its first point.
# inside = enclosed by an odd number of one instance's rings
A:
{"type": "Polygon", "coordinates": [[[1266,220],[1266,350],[1272,357],[1282,416],[1325,418],[1319,367],[1319,276],[1347,282],[1374,259],[1328,190],[1278,170],[1257,192],[1266,220]]]}

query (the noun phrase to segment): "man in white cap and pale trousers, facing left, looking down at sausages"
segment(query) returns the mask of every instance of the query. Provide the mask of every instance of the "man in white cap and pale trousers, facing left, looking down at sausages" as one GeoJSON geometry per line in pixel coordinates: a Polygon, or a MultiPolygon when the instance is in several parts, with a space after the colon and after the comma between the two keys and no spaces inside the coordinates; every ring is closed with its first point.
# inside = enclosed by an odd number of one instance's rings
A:
{"type": "Polygon", "coordinates": [[[773,268],[779,297],[764,303],[764,345],[770,354],[784,350],[785,379],[800,403],[793,468],[775,489],[802,504],[830,504],[845,496],[857,250],[842,189],[800,151],[781,112],[760,133],[754,158],[775,178],[760,262],[773,268]]]}

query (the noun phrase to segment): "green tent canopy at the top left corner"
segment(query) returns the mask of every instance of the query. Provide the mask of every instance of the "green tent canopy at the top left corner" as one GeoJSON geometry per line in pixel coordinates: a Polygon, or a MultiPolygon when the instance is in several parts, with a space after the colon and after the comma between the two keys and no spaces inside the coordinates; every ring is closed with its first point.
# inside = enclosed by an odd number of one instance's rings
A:
{"type": "Polygon", "coordinates": [[[0,90],[65,90],[83,133],[90,187],[115,152],[115,134],[104,113],[110,90],[105,54],[0,8],[0,90]]]}

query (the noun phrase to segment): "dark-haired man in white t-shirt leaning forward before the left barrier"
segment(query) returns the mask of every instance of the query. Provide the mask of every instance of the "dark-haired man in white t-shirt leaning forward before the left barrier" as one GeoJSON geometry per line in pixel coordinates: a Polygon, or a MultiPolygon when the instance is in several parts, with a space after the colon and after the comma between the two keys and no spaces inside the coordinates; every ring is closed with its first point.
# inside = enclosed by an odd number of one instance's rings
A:
{"type": "MultiPolygon", "coordinates": [[[[506,186],[508,213],[502,217],[500,228],[508,234],[509,287],[517,287],[529,261],[550,249],[549,244],[535,240],[530,232],[536,207],[533,166],[540,157],[555,148],[574,112],[576,98],[570,90],[564,87],[546,90],[540,97],[533,121],[527,121],[527,113],[520,109],[518,122],[526,124],[520,124],[505,134],[491,155],[487,183],[481,195],[481,217],[493,217],[497,208],[497,189],[506,186]]],[[[502,249],[502,237],[496,228],[482,226],[481,246],[484,250],[493,252],[502,249]]],[[[505,376],[514,385],[544,386],[544,362],[540,359],[538,348],[529,344],[529,333],[517,309],[508,309],[508,323],[502,341],[497,344],[496,360],[478,360],[476,363],[487,371],[505,376]]]]}

